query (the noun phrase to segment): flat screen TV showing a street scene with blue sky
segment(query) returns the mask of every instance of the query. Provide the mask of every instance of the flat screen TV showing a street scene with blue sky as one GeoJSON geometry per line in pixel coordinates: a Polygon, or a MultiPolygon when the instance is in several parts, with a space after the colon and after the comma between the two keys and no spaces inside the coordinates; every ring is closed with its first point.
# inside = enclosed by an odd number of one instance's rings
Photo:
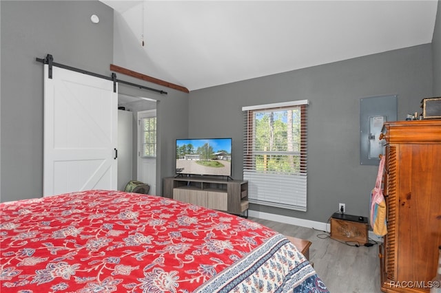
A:
{"type": "Polygon", "coordinates": [[[232,175],[232,138],[176,140],[176,174],[232,175]]]}

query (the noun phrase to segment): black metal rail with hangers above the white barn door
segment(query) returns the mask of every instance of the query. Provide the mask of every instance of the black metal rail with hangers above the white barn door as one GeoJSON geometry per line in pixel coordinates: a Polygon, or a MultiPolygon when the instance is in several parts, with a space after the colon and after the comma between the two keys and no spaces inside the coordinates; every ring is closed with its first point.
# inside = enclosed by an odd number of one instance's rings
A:
{"type": "Polygon", "coordinates": [[[128,81],[124,81],[124,80],[120,80],[116,78],[116,73],[112,73],[112,76],[105,76],[102,74],[96,74],[94,72],[88,72],[87,70],[83,70],[83,69],[79,69],[79,68],[75,68],[72,66],[68,66],[68,65],[63,65],[60,63],[55,63],[54,62],[54,57],[51,54],[48,54],[48,56],[46,56],[45,58],[35,58],[36,61],[41,62],[43,64],[48,64],[49,67],[49,72],[48,72],[48,78],[52,79],[52,66],[57,66],[60,68],[64,68],[64,69],[68,69],[68,70],[72,70],[73,72],[79,72],[82,74],[88,74],[90,76],[95,76],[98,78],[103,78],[103,79],[107,79],[107,80],[112,80],[113,81],[113,92],[116,93],[116,83],[123,83],[124,85],[130,85],[132,87],[139,87],[140,89],[147,89],[148,91],[156,91],[156,93],[159,94],[167,94],[167,91],[163,91],[161,89],[152,89],[152,87],[145,87],[143,85],[137,85],[136,83],[129,83],[128,81]]]}

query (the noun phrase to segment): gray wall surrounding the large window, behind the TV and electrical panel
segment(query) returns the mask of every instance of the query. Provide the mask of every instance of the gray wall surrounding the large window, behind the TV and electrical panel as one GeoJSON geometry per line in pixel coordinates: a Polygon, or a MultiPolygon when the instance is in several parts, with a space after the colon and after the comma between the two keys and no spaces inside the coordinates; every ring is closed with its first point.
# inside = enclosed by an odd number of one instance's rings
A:
{"type": "Polygon", "coordinates": [[[189,136],[232,137],[233,177],[241,179],[243,116],[249,105],[307,99],[307,212],[252,205],[252,210],[326,222],[345,203],[367,216],[377,166],[360,166],[360,98],[398,95],[398,118],[420,111],[432,94],[431,45],[354,58],[283,74],[244,80],[189,96],[189,136]]]}

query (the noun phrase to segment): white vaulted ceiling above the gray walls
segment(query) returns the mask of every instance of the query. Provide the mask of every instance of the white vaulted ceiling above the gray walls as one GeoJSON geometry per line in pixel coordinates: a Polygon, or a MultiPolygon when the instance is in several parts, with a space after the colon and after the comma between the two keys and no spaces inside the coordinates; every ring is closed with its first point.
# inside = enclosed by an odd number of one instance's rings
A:
{"type": "Polygon", "coordinates": [[[431,43],[438,6],[436,0],[101,2],[116,12],[114,64],[189,90],[431,43]]]}

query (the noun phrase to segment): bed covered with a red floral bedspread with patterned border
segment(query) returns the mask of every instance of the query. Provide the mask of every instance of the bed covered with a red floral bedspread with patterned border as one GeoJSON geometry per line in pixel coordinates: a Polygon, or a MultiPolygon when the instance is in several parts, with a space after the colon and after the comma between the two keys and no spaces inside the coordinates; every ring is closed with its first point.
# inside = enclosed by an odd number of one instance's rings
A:
{"type": "Polygon", "coordinates": [[[165,197],[83,191],[0,213],[3,293],[328,292],[278,232],[165,197]]]}

